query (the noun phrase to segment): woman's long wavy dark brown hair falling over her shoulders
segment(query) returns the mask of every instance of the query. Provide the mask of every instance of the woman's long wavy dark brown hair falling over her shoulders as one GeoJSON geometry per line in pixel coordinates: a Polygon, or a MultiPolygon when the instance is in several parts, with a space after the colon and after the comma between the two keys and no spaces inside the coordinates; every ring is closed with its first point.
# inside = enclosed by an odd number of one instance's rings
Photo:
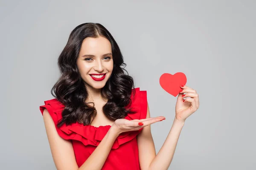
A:
{"type": "MultiPolygon", "coordinates": [[[[88,92],[76,65],[76,59],[83,40],[86,37],[97,38],[99,36],[110,41],[113,55],[112,74],[106,85],[101,89],[102,97],[108,99],[103,106],[103,113],[112,121],[122,119],[128,113],[135,113],[132,108],[129,108],[131,106],[134,79],[125,70],[126,64],[123,61],[119,46],[110,32],[101,24],[83,23],[71,31],[67,44],[58,57],[61,76],[52,87],[51,94],[63,103],[65,108],[61,113],[62,119],[58,121],[57,127],[61,127],[64,123],[70,125],[75,122],[91,125],[96,116],[97,111],[94,103],[85,102],[88,92]],[[93,106],[89,103],[93,103],[93,106]]],[[[133,94],[135,95],[135,93],[133,94]]]]}

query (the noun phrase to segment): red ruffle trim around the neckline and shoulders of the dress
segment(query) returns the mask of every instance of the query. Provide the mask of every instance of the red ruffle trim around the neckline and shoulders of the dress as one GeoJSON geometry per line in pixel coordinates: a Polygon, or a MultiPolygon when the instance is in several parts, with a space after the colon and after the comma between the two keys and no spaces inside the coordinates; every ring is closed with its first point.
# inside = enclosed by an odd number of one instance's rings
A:
{"type": "MultiPolygon", "coordinates": [[[[125,119],[133,120],[133,119],[145,119],[147,115],[147,92],[140,91],[140,88],[134,88],[135,96],[131,95],[131,106],[129,108],[133,108],[133,111],[136,111],[134,114],[128,114],[125,116],[125,119]]],[[[58,121],[62,118],[61,112],[64,109],[64,105],[59,102],[57,99],[50,99],[44,101],[45,105],[40,106],[40,111],[43,115],[44,108],[46,108],[52,117],[53,122],[55,123],[56,130],[63,139],[66,140],[77,140],[82,142],[84,145],[94,145],[98,146],[102,141],[108,130],[110,129],[110,125],[95,127],[92,125],[83,125],[81,123],[73,123],[71,125],[62,125],[58,128],[56,125],[58,121]]],[[[142,130],[128,131],[121,133],[116,141],[113,143],[112,149],[116,149],[119,145],[124,144],[125,142],[129,142],[134,137],[136,137],[142,130]]]]}

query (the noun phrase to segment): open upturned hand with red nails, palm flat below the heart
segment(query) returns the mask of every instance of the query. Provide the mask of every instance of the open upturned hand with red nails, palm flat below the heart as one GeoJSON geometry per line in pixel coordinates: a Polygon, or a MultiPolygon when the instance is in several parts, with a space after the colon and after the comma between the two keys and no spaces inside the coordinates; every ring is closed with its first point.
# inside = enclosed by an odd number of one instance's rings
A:
{"type": "Polygon", "coordinates": [[[139,130],[142,127],[151,125],[155,122],[160,122],[164,119],[165,119],[164,116],[150,117],[146,119],[133,119],[133,120],[116,119],[116,121],[113,123],[112,126],[116,127],[115,129],[117,129],[118,133],[120,134],[127,131],[139,130]]]}

